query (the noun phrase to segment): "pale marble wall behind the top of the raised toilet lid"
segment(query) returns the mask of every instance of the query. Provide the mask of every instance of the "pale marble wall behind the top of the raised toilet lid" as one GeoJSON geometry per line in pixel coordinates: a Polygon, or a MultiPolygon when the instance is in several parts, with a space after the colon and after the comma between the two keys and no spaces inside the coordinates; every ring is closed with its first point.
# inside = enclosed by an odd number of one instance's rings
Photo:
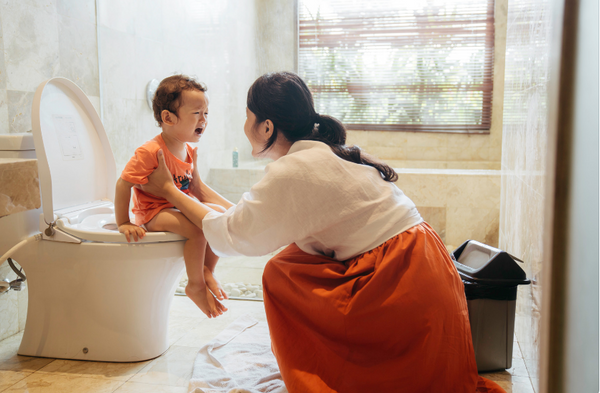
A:
{"type": "Polygon", "coordinates": [[[99,100],[94,0],[0,1],[0,134],[31,130],[37,86],[56,76],[99,100]]]}

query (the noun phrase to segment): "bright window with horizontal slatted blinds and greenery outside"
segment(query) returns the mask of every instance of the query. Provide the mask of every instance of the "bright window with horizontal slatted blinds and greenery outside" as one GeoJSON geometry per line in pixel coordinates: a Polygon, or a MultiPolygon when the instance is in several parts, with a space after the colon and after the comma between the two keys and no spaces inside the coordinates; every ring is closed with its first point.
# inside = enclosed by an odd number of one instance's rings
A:
{"type": "Polygon", "coordinates": [[[300,0],[299,72],[348,129],[489,132],[494,0],[300,0]]]}

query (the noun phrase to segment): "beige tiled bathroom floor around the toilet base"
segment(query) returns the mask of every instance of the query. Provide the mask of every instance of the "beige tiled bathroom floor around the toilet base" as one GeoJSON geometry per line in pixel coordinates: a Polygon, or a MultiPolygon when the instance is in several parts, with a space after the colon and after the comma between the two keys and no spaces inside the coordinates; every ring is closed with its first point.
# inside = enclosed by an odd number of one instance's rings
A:
{"type": "MultiPolygon", "coordinates": [[[[219,262],[221,282],[260,284],[267,257],[226,258],[219,262]]],[[[18,356],[23,333],[0,341],[0,392],[11,393],[185,393],[198,350],[244,314],[265,321],[262,302],[226,302],[229,311],[208,319],[184,296],[175,296],[169,320],[170,348],[160,357],[139,363],[101,363],[18,356]]],[[[483,374],[507,393],[534,393],[519,346],[513,367],[483,374]]]]}

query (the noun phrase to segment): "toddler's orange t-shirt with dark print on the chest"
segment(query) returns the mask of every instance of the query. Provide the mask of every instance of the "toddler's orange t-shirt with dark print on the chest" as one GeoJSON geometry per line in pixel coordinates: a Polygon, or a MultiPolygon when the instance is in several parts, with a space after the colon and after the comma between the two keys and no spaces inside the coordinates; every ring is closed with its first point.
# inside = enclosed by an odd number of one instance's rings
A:
{"type": "MultiPolygon", "coordinates": [[[[121,173],[121,179],[133,184],[148,183],[148,175],[158,168],[158,151],[162,149],[167,167],[173,175],[173,182],[184,194],[190,193],[189,186],[192,181],[194,149],[186,144],[187,157],[184,161],[175,157],[165,145],[159,134],[142,146],[138,147],[135,154],[121,173]]],[[[174,207],[164,198],[159,198],[136,187],[133,188],[132,211],[135,215],[136,225],[143,225],[154,218],[162,209],[174,207]]]]}

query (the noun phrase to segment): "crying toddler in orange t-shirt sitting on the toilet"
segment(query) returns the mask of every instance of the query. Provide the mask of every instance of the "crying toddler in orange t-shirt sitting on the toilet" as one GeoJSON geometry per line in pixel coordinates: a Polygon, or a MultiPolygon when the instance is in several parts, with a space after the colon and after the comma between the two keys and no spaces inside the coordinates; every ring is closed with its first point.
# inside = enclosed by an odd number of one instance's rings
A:
{"type": "MultiPolygon", "coordinates": [[[[146,231],[174,232],[188,239],[183,249],[188,274],[185,293],[209,318],[216,317],[227,308],[214,296],[223,300],[227,295],[214,276],[218,257],[208,246],[202,230],[167,200],[134,187],[148,182],[147,176],[158,167],[157,153],[162,149],[177,187],[189,196],[200,198],[197,149],[187,143],[198,142],[206,130],[206,86],[184,75],[170,76],[158,86],[152,108],[162,132],[135,151],[117,181],[115,216],[119,232],[125,234],[128,242],[131,239],[137,242],[146,231]],[[129,221],[132,187],[134,223],[129,221]]],[[[207,205],[225,211],[221,206],[207,205]]]]}

